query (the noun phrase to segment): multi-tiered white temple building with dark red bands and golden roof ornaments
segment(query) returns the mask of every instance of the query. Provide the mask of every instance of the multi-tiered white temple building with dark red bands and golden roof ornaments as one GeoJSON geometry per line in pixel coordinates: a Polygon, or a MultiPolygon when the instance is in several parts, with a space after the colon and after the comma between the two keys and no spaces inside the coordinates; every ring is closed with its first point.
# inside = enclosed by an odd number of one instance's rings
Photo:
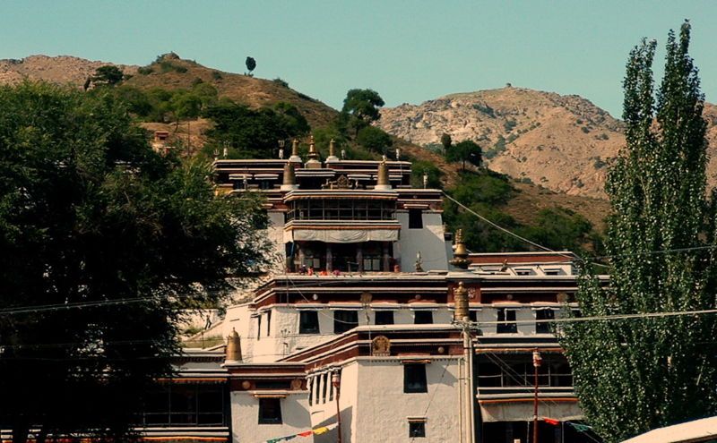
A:
{"type": "Polygon", "coordinates": [[[538,359],[540,443],[594,441],[572,426],[549,322],[577,310],[574,254],[471,253],[445,231],[442,192],[411,187],[410,162],[341,159],[333,143],[324,161],[312,140],[306,160],[295,142],[288,159],[214,167],[218,192],[263,196],[276,267],[203,331],[219,345],[187,349],[146,432],[527,443],[538,359]]]}

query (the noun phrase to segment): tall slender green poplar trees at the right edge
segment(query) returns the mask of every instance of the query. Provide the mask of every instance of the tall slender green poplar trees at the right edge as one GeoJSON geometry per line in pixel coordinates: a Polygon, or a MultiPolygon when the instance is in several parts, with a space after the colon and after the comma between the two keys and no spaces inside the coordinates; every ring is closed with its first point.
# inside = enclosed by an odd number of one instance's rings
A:
{"type": "MultiPolygon", "coordinates": [[[[626,149],[606,185],[613,208],[606,242],[610,285],[601,287],[583,270],[577,294],[583,316],[714,307],[704,96],[687,52],[689,38],[687,22],[678,38],[669,32],[656,98],[655,42],[643,41],[630,53],[626,149]]],[[[587,420],[612,442],[717,413],[715,328],[713,315],[683,315],[574,322],[558,329],[587,420]]]]}

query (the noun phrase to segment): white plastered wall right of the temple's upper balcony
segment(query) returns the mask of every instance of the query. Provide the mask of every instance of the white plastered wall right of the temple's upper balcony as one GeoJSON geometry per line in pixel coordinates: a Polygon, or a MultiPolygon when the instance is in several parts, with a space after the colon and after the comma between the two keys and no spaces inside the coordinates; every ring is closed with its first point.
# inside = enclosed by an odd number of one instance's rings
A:
{"type": "MultiPolygon", "coordinates": [[[[396,211],[401,223],[401,239],[397,242],[401,256],[401,269],[412,272],[416,267],[416,254],[420,251],[423,270],[446,270],[446,255],[443,217],[440,212],[423,211],[423,228],[409,229],[408,211],[396,211]]],[[[399,254],[393,252],[394,256],[399,254]]]]}

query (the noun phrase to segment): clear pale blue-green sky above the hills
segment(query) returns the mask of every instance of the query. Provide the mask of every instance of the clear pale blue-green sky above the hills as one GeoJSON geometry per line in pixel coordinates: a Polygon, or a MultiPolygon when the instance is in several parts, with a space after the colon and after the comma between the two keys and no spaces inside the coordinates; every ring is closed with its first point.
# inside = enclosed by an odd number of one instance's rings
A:
{"type": "MultiPolygon", "coordinates": [[[[4,1],[0,58],[77,55],[149,64],[175,51],[281,77],[330,106],[351,88],[387,106],[514,86],[579,94],[621,114],[626,56],[689,18],[691,53],[717,101],[715,1],[4,1]]],[[[657,60],[661,64],[662,52],[657,60]]]]}

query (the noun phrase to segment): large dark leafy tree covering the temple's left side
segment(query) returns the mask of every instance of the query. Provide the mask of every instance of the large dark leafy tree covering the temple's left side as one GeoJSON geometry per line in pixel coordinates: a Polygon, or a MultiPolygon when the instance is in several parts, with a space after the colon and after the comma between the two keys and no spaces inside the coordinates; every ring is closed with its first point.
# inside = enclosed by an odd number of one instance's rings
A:
{"type": "Polygon", "coordinates": [[[30,426],[124,440],[171,374],[181,309],[264,263],[258,202],[214,197],[210,166],[155,154],[106,92],[0,88],[0,425],[15,442],[30,426]]]}

